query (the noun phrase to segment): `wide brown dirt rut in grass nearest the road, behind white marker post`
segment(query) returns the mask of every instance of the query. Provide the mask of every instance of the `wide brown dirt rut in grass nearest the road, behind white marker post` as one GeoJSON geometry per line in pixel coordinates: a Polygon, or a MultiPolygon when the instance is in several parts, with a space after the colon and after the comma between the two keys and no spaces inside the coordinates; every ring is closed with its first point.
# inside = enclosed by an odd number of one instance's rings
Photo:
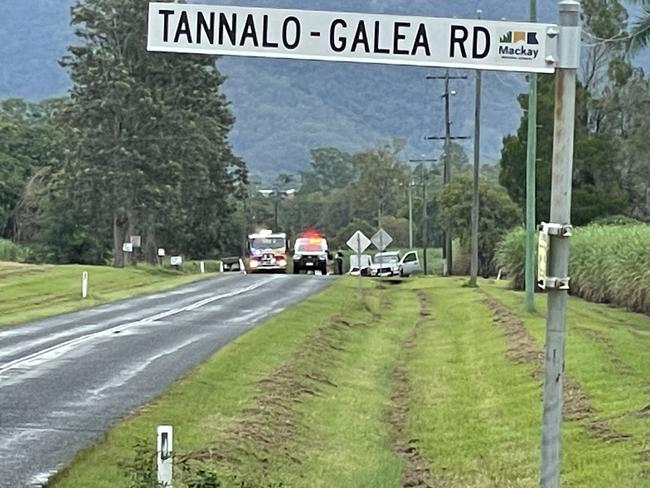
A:
{"type": "Polygon", "coordinates": [[[288,361],[258,382],[255,402],[225,429],[218,444],[187,453],[180,461],[217,462],[234,471],[246,466],[244,471],[254,469],[262,478],[273,464],[300,464],[294,441],[308,426],[294,407],[305,398],[320,396],[325,388],[337,387],[325,370],[345,350],[349,332],[363,327],[368,325],[340,317],[318,327],[288,361]]]}

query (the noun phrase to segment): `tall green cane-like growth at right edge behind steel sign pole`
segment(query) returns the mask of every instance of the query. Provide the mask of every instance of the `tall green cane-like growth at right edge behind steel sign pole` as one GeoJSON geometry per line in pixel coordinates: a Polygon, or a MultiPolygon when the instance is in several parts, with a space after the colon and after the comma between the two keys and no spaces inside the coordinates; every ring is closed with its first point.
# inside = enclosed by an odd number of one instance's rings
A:
{"type": "MultiPolygon", "coordinates": [[[[496,262],[522,288],[525,231],[498,245],[496,262]]],[[[569,260],[571,293],[650,314],[650,225],[590,225],[574,230],[569,260]]]]}

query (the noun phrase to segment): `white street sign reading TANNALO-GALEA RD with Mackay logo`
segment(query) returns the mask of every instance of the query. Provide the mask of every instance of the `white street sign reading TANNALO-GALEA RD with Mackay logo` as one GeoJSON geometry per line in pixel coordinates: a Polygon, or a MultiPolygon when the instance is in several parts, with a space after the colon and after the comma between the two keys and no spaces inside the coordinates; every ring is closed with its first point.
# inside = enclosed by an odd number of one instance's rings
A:
{"type": "Polygon", "coordinates": [[[559,36],[552,24],[154,2],[147,48],[553,73],[559,36]]]}

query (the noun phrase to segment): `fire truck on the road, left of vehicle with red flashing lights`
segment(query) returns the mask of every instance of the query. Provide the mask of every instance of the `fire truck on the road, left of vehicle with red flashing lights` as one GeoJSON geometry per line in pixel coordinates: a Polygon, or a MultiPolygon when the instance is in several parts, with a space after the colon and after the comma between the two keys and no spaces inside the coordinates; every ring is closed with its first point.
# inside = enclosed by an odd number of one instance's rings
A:
{"type": "Polygon", "coordinates": [[[261,230],[248,236],[247,270],[249,273],[286,273],[289,265],[287,235],[261,230]]]}

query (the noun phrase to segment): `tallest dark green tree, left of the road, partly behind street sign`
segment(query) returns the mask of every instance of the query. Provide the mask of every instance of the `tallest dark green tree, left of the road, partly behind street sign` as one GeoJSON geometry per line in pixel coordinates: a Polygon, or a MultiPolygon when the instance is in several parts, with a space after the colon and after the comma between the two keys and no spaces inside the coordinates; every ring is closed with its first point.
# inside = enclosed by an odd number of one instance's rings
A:
{"type": "Polygon", "coordinates": [[[147,8],[78,3],[72,24],[83,42],[61,62],[73,83],[65,171],[72,192],[93,195],[96,230],[111,227],[115,265],[131,234],[143,235],[151,259],[159,245],[197,255],[218,248],[246,178],[228,143],[234,119],[214,58],[147,52],[147,8]]]}

